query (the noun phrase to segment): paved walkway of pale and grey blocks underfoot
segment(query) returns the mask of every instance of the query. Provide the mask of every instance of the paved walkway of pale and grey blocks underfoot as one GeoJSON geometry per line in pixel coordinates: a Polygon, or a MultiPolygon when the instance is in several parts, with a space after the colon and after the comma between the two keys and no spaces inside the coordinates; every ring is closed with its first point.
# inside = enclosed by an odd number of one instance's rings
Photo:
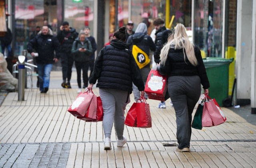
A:
{"type": "MultiPolygon", "coordinates": [[[[169,100],[166,109],[148,100],[152,128],[125,126],[128,142],[122,148],[116,147],[113,129],[112,150],[106,151],[102,122],[84,122],[67,112],[77,96],[76,86],[60,88],[59,76],[61,72],[52,72],[56,87],[50,86],[46,94],[33,88],[26,89],[25,101],[17,101],[18,93],[4,99],[0,167],[256,167],[256,126],[228,108],[222,108],[224,124],[192,128],[191,152],[176,152],[175,112],[169,100]]],[[[98,89],[93,90],[98,95],[98,89]]],[[[126,112],[132,94],[131,100],[126,112]]]]}

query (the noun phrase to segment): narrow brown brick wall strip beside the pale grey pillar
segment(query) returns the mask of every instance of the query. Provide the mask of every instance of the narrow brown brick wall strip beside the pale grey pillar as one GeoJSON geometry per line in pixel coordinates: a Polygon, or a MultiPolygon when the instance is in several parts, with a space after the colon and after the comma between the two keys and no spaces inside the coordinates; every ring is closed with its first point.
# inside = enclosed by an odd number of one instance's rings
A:
{"type": "Polygon", "coordinates": [[[237,0],[229,0],[229,4],[228,4],[228,46],[236,46],[236,10],[237,10],[237,0]]]}

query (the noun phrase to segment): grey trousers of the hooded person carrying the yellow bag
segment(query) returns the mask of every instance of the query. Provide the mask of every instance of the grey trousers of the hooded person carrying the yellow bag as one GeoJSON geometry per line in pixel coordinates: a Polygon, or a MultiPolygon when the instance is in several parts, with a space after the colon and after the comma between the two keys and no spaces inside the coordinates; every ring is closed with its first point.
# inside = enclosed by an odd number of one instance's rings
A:
{"type": "MultiPolygon", "coordinates": [[[[146,66],[144,68],[141,68],[140,72],[141,72],[142,80],[143,80],[143,83],[144,83],[144,86],[145,86],[145,84],[147,82],[148,74],[150,72],[150,67],[146,66]]],[[[132,83],[132,92],[133,92],[133,95],[134,95],[134,100],[135,100],[135,102],[137,102],[140,98],[140,91],[138,90],[137,86],[135,86],[134,83],[132,83]]],[[[148,99],[148,95],[146,93],[144,94],[144,98],[148,99]]]]}

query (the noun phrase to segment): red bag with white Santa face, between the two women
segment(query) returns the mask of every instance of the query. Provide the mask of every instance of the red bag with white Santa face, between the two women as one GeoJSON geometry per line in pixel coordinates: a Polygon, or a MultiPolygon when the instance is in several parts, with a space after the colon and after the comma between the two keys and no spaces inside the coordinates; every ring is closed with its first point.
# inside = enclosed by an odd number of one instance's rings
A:
{"type": "Polygon", "coordinates": [[[159,74],[157,70],[150,70],[144,90],[148,98],[154,100],[164,100],[167,91],[167,76],[159,74]]]}

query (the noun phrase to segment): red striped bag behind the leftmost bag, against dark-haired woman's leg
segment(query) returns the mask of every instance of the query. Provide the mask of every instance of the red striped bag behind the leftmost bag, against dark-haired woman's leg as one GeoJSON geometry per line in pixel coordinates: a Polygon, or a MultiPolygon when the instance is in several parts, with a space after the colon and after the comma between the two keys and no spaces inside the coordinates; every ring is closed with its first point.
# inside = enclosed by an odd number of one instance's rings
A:
{"type": "Polygon", "coordinates": [[[100,96],[97,97],[96,95],[94,95],[85,116],[77,117],[77,118],[80,120],[85,120],[86,122],[102,121],[103,108],[102,108],[102,101],[100,99],[100,96]]]}

